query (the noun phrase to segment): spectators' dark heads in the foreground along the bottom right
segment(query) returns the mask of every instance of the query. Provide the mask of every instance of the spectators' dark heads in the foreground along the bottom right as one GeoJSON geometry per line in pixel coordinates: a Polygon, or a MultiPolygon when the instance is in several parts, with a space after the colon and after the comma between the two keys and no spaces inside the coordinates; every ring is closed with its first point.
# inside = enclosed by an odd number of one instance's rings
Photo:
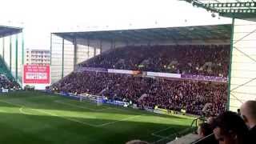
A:
{"type": "MultiPolygon", "coordinates": [[[[256,136],[256,101],[244,102],[241,113],[225,111],[217,117],[210,117],[198,126],[198,140],[193,144],[254,144],[256,136]]],[[[144,144],[140,140],[127,144],[144,144]]],[[[182,143],[175,139],[170,143],[182,143]]]]}

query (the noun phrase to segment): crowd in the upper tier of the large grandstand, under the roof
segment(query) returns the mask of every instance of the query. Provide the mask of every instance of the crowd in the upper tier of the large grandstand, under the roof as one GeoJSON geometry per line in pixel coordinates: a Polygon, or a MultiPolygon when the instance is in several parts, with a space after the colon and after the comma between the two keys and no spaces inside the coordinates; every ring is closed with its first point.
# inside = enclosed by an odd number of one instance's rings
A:
{"type": "Polygon", "coordinates": [[[227,77],[229,60],[229,45],[126,46],[79,66],[227,77]]]}

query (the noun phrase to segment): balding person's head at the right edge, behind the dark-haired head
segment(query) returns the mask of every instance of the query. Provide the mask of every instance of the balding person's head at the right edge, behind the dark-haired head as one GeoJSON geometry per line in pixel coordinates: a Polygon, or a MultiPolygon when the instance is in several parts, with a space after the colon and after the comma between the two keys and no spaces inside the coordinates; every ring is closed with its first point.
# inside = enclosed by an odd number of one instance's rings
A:
{"type": "Polygon", "coordinates": [[[256,126],[256,101],[247,101],[242,104],[240,112],[246,125],[252,129],[256,126]]]}

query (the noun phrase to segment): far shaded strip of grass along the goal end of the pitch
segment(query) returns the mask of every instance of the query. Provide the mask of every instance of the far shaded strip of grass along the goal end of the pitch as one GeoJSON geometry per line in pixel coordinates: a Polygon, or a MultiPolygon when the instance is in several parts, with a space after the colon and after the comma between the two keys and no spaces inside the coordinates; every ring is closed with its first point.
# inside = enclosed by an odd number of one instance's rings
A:
{"type": "MultiPolygon", "coordinates": [[[[74,112],[97,112],[102,114],[130,114],[138,115],[143,114],[146,116],[157,116],[161,118],[177,118],[178,120],[187,120],[186,118],[180,118],[175,115],[166,114],[154,114],[147,112],[146,110],[134,110],[131,108],[124,108],[122,106],[103,105],[96,106],[96,104],[90,102],[78,102],[70,98],[61,97],[57,94],[45,94],[42,92],[14,92],[6,94],[6,97],[0,98],[0,103],[9,102],[4,106],[10,107],[21,107],[25,106],[31,109],[42,109],[42,110],[63,110],[63,111],[74,111],[74,112]],[[11,100],[10,100],[11,99],[11,100]]],[[[2,104],[0,104],[1,106],[2,104]]]]}

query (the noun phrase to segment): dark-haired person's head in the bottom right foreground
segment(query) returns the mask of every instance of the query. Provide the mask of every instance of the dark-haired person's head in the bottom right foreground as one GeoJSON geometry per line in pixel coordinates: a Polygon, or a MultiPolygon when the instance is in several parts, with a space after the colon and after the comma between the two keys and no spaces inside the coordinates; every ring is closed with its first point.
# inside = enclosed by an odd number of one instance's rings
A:
{"type": "Polygon", "coordinates": [[[220,144],[246,144],[248,128],[236,113],[226,111],[214,121],[214,136],[220,144]]]}

